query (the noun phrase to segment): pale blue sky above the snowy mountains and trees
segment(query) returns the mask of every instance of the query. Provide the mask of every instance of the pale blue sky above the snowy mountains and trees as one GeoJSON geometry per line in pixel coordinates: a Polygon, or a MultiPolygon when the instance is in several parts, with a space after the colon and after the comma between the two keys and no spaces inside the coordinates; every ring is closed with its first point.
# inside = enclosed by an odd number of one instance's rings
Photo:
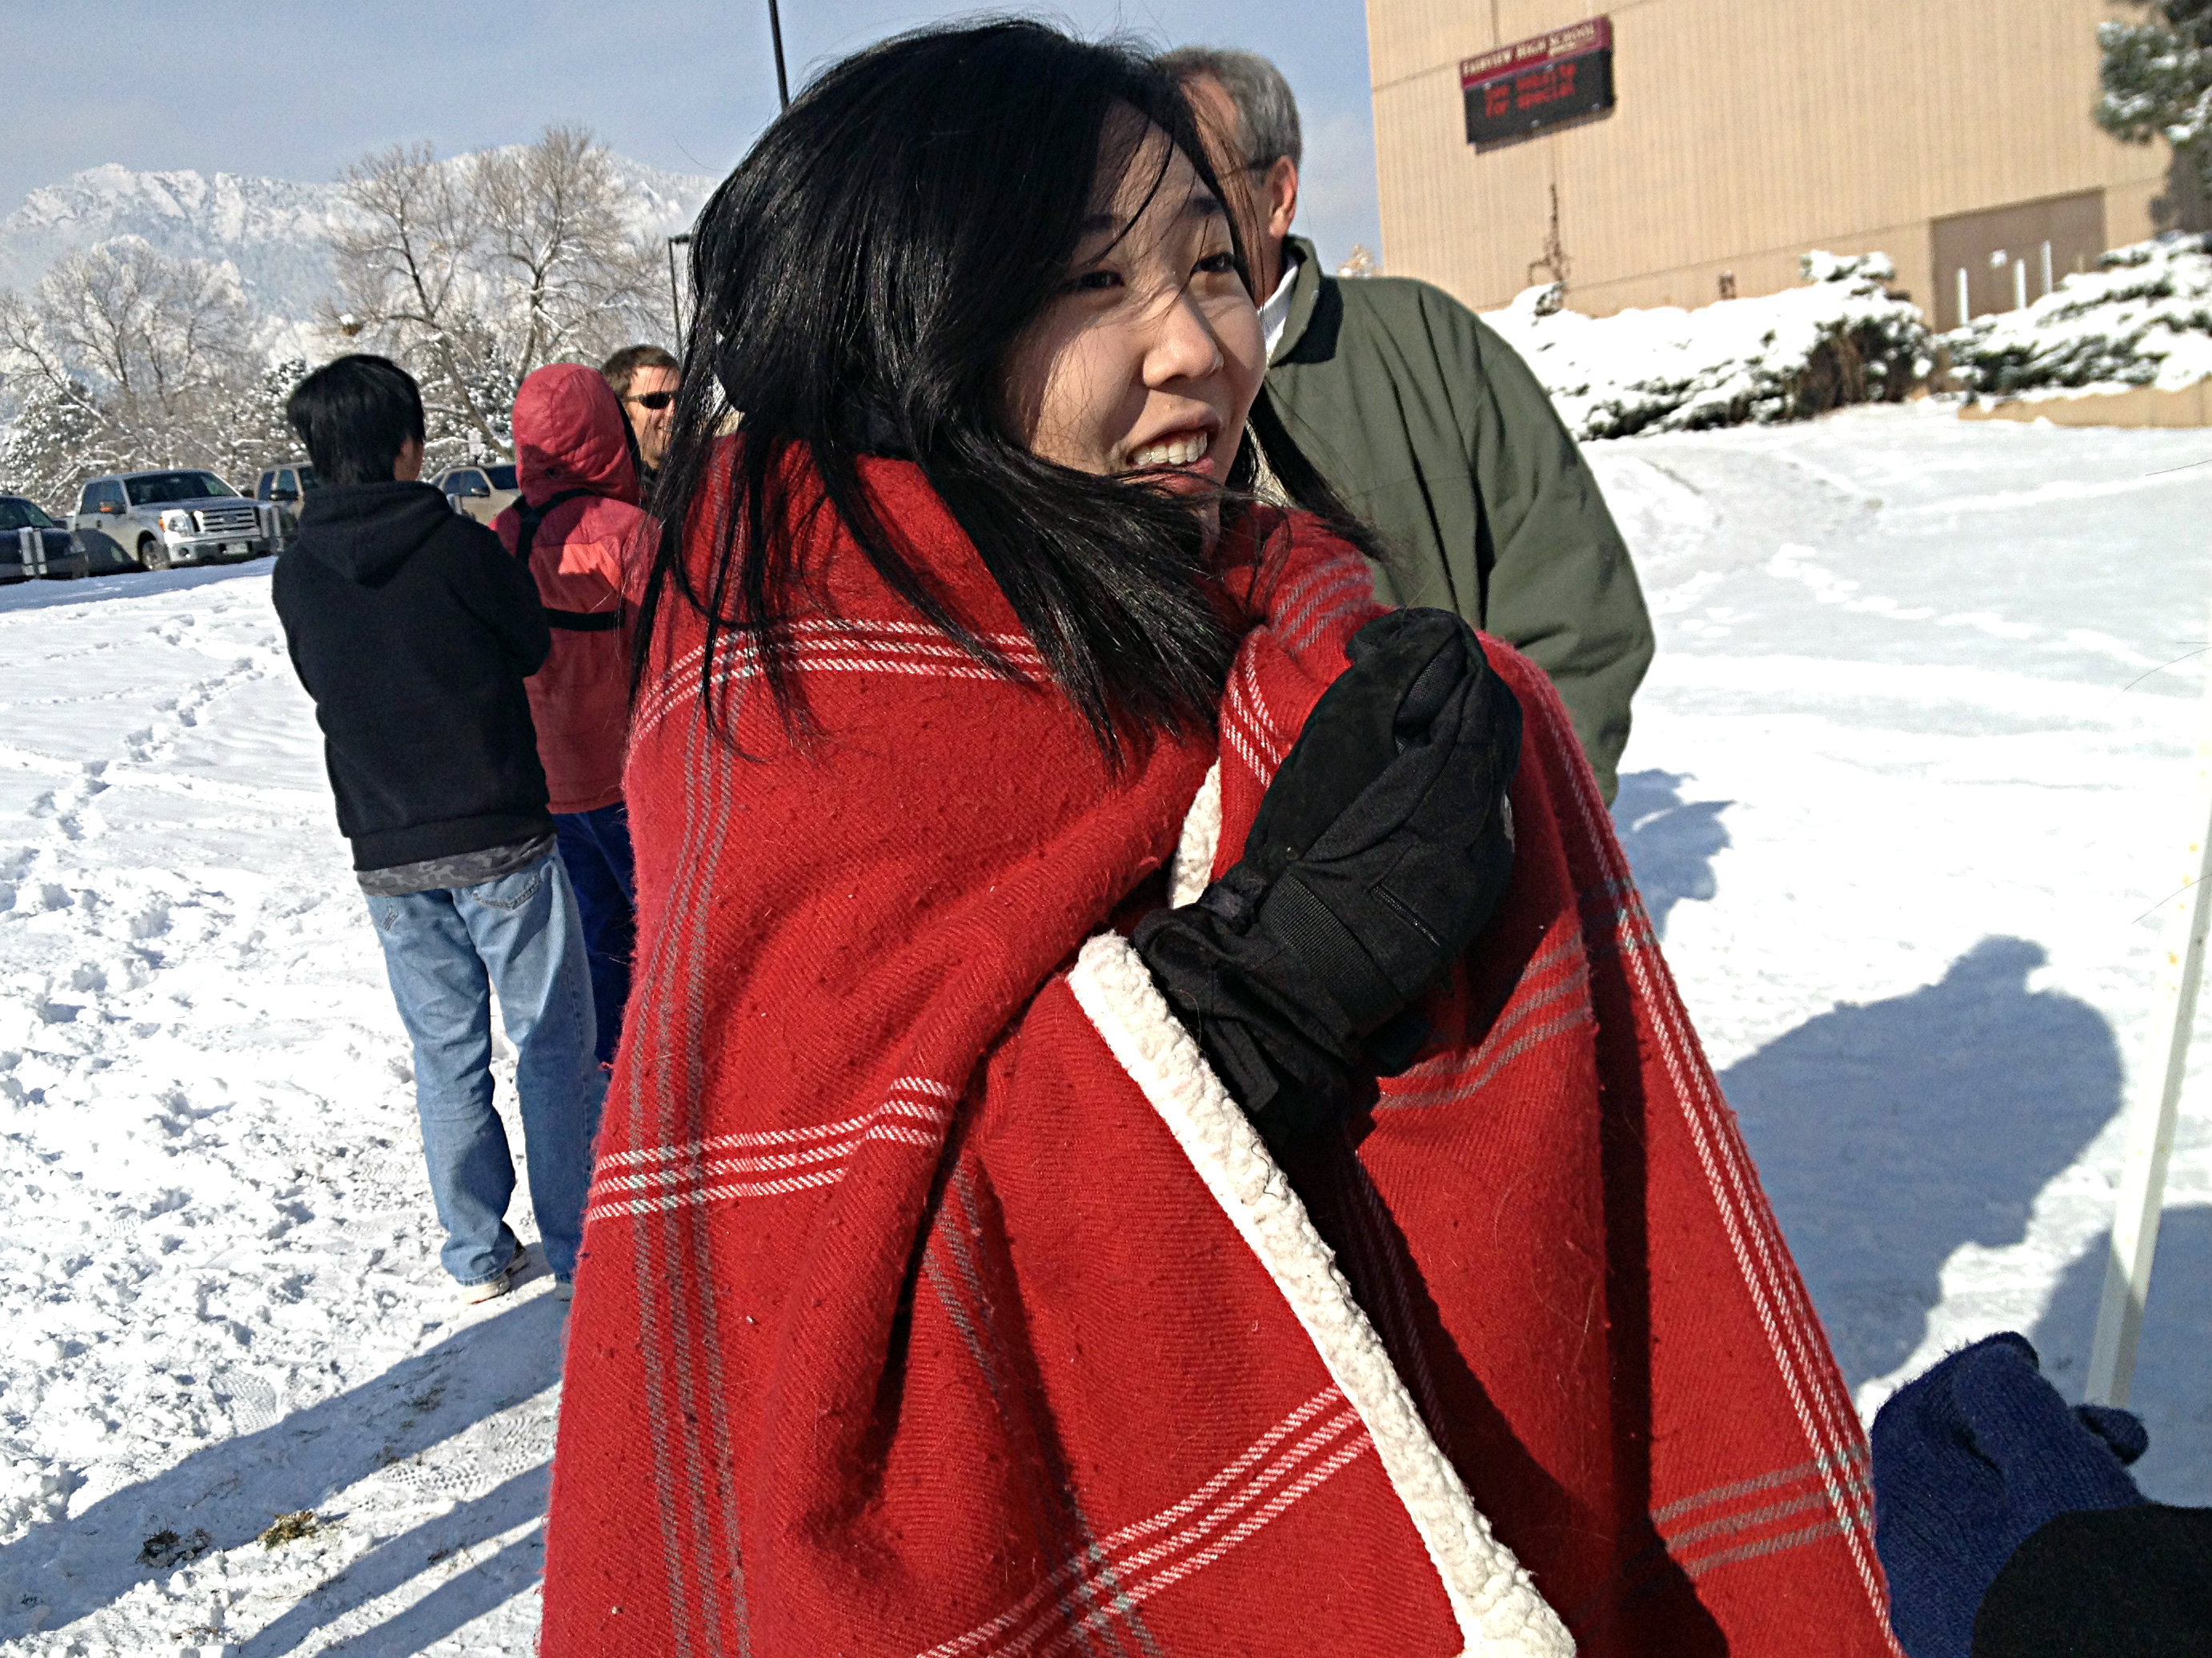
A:
{"type": "MultiPolygon", "coordinates": [[[[885,33],[975,11],[783,0],[794,86],[885,33]]],[[[1086,35],[1267,53],[1305,117],[1301,228],[1332,261],[1354,241],[1380,243],[1360,0],[1077,0],[1035,15],[1086,35]]],[[[0,62],[18,93],[0,144],[0,214],[102,161],[332,179],[392,141],[473,150],[573,119],[637,161],[721,175],[776,111],[765,0],[4,0],[0,62]],[[24,97],[31,88],[42,95],[24,97]]]]}

